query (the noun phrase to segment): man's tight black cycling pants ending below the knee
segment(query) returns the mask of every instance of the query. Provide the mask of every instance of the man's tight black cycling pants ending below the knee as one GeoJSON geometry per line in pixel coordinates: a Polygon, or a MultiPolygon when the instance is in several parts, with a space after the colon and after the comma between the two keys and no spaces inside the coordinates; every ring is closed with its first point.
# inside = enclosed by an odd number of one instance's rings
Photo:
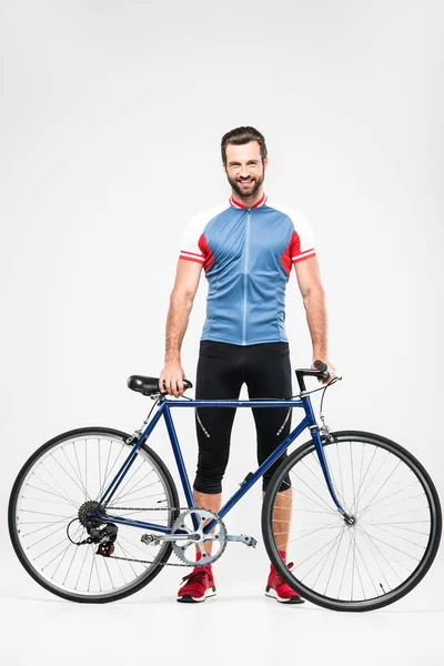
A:
{"type": "MultiPolygon", "coordinates": [[[[202,340],[195,397],[198,400],[238,400],[243,383],[246,384],[250,398],[291,397],[289,343],[269,342],[240,346],[202,340]]],[[[261,465],[289,435],[291,412],[290,416],[286,407],[256,407],[252,408],[252,412],[258,435],[258,463],[261,465]],[[278,435],[276,433],[286,417],[287,421],[278,435]]],[[[231,407],[196,410],[199,460],[194,490],[200,493],[222,492],[222,478],[229,462],[234,414],[235,408],[231,407]]],[[[285,456],[286,453],[264,474],[263,490],[266,488],[274,471],[285,456]]],[[[282,490],[289,487],[285,482],[290,483],[290,480],[284,480],[282,490]]]]}

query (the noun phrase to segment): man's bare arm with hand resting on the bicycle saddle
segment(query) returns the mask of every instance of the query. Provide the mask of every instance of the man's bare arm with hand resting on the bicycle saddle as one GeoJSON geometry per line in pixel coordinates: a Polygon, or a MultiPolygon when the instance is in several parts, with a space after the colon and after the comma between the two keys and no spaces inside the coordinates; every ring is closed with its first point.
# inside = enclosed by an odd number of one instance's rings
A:
{"type": "Polygon", "coordinates": [[[160,391],[179,397],[183,394],[184,372],[180,351],[186,331],[194,295],[198,291],[202,264],[194,261],[178,261],[175,282],[170,296],[167,316],[165,365],[159,377],[160,391]]]}

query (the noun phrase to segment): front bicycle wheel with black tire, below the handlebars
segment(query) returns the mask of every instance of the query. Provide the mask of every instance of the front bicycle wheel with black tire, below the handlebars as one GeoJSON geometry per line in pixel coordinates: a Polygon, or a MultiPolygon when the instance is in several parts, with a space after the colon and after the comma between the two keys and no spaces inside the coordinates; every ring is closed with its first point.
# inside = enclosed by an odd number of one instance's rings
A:
{"type": "Polygon", "coordinates": [[[354,525],[337,512],[314,444],[306,442],[268,487],[262,509],[268,554],[283,579],[320,606],[362,612],[392,604],[420,583],[435,558],[442,529],[435,486],[411,453],[385,437],[337,432],[332,441],[323,437],[323,448],[354,525]],[[291,571],[279,553],[286,538],[291,571]]]}

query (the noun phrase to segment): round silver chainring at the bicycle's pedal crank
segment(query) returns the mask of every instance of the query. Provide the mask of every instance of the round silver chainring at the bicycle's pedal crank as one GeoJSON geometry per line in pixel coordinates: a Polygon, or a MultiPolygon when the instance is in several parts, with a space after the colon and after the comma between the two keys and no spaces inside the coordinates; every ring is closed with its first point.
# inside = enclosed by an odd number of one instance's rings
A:
{"type": "Polygon", "coordinates": [[[226,547],[226,527],[222,518],[208,508],[189,508],[181,513],[171,528],[172,534],[176,532],[181,534],[185,532],[190,534],[190,536],[199,534],[200,536],[199,541],[190,538],[190,541],[181,539],[172,542],[175,555],[189,566],[205,566],[205,564],[212,564],[221,557],[226,547]],[[194,516],[198,521],[196,528],[194,526],[194,516]],[[204,526],[212,519],[216,523],[215,527],[211,533],[204,534],[204,526]],[[211,542],[213,546],[211,554],[206,553],[204,548],[204,544],[208,542],[211,542]],[[199,562],[198,552],[201,554],[199,562]]]}

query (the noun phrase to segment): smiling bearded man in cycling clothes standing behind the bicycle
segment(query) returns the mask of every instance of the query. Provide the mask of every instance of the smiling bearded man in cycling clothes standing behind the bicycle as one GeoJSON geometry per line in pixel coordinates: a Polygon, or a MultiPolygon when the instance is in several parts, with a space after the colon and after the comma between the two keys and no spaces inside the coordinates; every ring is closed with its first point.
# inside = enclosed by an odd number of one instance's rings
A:
{"type": "MultiPolygon", "coordinates": [[[[330,366],[325,300],[311,230],[301,213],[275,205],[265,195],[263,182],[269,159],[265,140],[258,130],[242,127],[228,132],[221,150],[231,196],[228,203],[192,218],[184,232],[167,320],[165,365],[159,387],[176,397],[183,394],[185,375],[180,350],[203,268],[209,294],[195,397],[236,400],[243,383],[251,398],[290,397],[292,376],[284,307],[292,265],[306,311],[313,361],[321,360],[330,366]]],[[[258,462],[262,464],[290,433],[291,417],[282,407],[252,411],[258,462]]],[[[193,495],[196,506],[214,513],[222,503],[222,477],[234,413],[229,407],[196,411],[199,460],[193,495]]],[[[263,491],[282,457],[264,475],[263,491]]],[[[284,561],[291,493],[291,488],[282,488],[281,508],[273,515],[282,526],[276,544],[284,561]]],[[[178,594],[180,602],[203,602],[215,594],[211,565],[195,567],[183,582],[178,594]]],[[[273,565],[265,594],[282,603],[303,603],[273,565]]]]}

